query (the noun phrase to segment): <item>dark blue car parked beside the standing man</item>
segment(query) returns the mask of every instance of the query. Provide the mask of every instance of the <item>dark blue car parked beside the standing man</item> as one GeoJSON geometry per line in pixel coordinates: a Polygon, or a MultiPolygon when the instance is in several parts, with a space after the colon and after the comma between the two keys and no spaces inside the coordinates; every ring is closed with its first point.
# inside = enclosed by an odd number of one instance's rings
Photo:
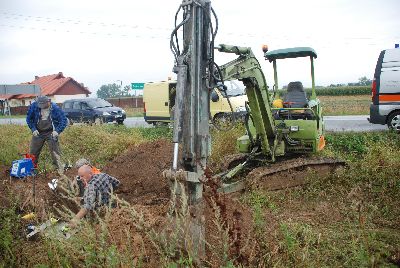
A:
{"type": "Polygon", "coordinates": [[[126,113],[123,109],[113,106],[104,99],[84,98],[66,100],[62,109],[69,123],[109,123],[123,124],[126,113]]]}

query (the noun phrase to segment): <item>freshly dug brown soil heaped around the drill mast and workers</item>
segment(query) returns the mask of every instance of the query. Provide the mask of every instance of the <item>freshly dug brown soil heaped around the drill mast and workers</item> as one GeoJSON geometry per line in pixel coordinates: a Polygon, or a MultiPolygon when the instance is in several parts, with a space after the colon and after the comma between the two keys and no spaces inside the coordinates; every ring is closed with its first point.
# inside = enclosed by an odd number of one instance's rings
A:
{"type": "MultiPolygon", "coordinates": [[[[169,141],[160,140],[141,144],[128,149],[125,153],[110,161],[103,172],[108,173],[121,181],[121,187],[117,196],[131,204],[135,211],[144,217],[148,230],[156,231],[172,230],[170,211],[170,190],[168,182],[162,177],[162,171],[171,166],[172,144],[169,141]]],[[[95,164],[95,163],[94,163],[95,164]]],[[[10,200],[19,200],[21,204],[19,213],[24,215],[33,209],[33,178],[24,180],[11,179],[9,167],[0,167],[1,182],[0,207],[10,206],[10,200]]],[[[76,170],[71,169],[66,175],[72,180],[76,170]]],[[[48,187],[47,183],[55,178],[54,173],[41,173],[35,177],[35,209],[38,222],[48,219],[51,215],[58,215],[56,209],[66,206],[73,212],[79,207],[70,200],[60,197],[48,187]]],[[[255,254],[256,244],[252,236],[251,211],[244,207],[234,195],[223,196],[216,193],[216,188],[210,183],[204,191],[204,218],[206,226],[206,241],[212,245],[221,244],[221,232],[216,224],[218,212],[220,223],[229,231],[228,239],[231,243],[230,252],[241,263],[248,263],[255,254]]],[[[144,248],[140,252],[132,252],[138,259],[143,258],[145,267],[159,267],[159,252],[152,246],[143,230],[137,226],[129,217],[129,209],[116,208],[112,212],[112,220],[109,224],[110,237],[113,243],[123,246],[126,244],[126,230],[131,234],[135,248],[144,248]],[[143,247],[144,245],[144,247],[143,247]]],[[[67,220],[67,219],[64,219],[67,220]]],[[[37,243],[37,241],[36,241],[37,243]]],[[[222,246],[222,245],[221,245],[222,246]]],[[[216,248],[206,249],[206,259],[210,266],[218,266],[213,263],[213,256],[219,254],[216,248]]],[[[217,256],[220,257],[220,256],[217,256]]],[[[31,265],[29,263],[28,265],[31,265]]]]}

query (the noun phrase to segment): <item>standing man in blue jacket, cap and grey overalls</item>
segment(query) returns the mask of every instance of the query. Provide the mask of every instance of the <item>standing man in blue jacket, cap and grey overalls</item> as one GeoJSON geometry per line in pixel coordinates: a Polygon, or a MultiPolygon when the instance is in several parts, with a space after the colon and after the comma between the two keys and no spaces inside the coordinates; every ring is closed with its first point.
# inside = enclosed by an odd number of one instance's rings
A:
{"type": "Polygon", "coordinates": [[[26,123],[32,131],[30,153],[35,155],[34,164],[39,160],[44,142],[49,146],[53,165],[59,174],[64,173],[61,162],[60,144],[58,135],[67,126],[67,117],[57,104],[52,103],[47,96],[39,96],[29,106],[26,123]]]}

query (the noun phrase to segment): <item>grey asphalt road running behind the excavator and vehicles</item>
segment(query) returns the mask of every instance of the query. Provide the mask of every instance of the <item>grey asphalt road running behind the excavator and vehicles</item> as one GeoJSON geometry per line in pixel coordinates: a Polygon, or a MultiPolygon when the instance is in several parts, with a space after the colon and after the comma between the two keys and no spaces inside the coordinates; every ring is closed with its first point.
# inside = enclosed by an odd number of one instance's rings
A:
{"type": "MultiPolygon", "coordinates": [[[[368,115],[346,115],[346,116],[324,116],[325,130],[331,132],[345,132],[345,131],[382,131],[387,130],[386,125],[370,124],[367,120],[368,115]]],[[[26,124],[25,118],[2,118],[1,124],[26,124]]],[[[124,121],[127,127],[152,127],[147,124],[142,117],[128,117],[124,121]]]]}

